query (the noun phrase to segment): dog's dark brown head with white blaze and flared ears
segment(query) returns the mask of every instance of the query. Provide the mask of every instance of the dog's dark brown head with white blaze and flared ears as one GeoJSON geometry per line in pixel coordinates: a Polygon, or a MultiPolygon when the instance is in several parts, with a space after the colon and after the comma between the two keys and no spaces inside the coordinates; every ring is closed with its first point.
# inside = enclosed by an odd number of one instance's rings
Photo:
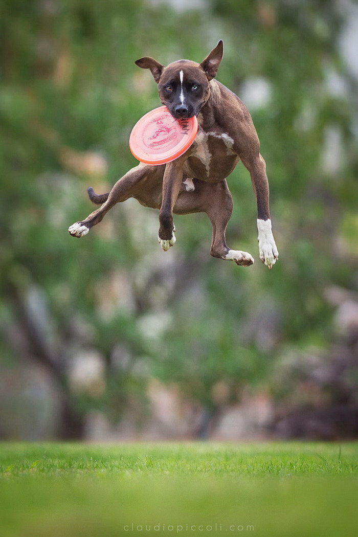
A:
{"type": "Polygon", "coordinates": [[[164,67],[153,58],[144,57],[135,63],[150,69],[156,83],[160,101],[167,106],[175,119],[198,115],[210,95],[209,82],[216,76],[223,57],[223,42],[201,62],[179,60],[164,67]]]}

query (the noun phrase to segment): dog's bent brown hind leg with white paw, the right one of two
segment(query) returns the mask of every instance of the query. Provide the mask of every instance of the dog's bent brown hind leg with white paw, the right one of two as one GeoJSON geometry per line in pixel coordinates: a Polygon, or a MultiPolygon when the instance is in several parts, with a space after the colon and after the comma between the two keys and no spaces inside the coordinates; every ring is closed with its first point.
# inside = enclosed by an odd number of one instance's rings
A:
{"type": "Polygon", "coordinates": [[[249,252],[231,250],[225,240],[225,230],[232,213],[232,196],[226,180],[213,185],[213,193],[206,202],[205,212],[213,226],[210,255],[220,259],[235,261],[240,266],[253,264],[253,257],[249,252]]]}

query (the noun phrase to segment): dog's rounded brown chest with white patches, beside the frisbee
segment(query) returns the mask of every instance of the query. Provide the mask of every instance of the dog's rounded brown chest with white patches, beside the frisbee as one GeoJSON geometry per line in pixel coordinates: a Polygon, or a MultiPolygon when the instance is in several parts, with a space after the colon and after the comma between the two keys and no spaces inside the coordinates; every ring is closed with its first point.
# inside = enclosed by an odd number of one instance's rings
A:
{"type": "Polygon", "coordinates": [[[191,156],[185,162],[184,173],[208,183],[222,181],[239,161],[232,147],[233,140],[226,133],[199,131],[191,156]]]}

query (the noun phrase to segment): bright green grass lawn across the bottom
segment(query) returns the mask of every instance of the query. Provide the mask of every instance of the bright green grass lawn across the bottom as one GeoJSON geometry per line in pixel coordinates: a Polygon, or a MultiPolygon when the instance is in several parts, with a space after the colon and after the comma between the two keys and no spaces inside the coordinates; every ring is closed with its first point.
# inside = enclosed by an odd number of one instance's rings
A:
{"type": "Polygon", "coordinates": [[[0,444],[0,535],[358,534],[358,444],[0,444]]]}

